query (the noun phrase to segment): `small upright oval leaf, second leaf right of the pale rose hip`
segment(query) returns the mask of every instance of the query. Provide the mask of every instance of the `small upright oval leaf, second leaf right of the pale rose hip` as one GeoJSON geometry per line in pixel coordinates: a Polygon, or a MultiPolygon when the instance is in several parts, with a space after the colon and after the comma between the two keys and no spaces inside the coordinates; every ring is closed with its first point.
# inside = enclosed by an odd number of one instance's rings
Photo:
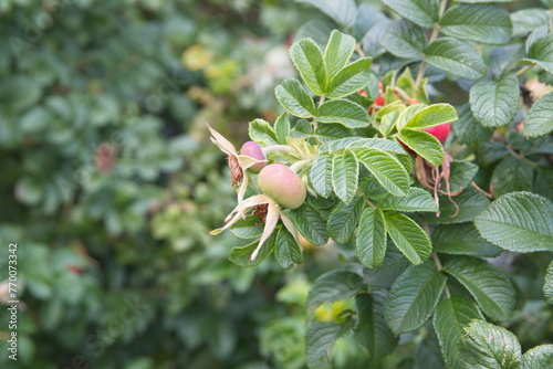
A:
{"type": "Polygon", "coordinates": [[[332,159],[332,188],[340,200],[349,203],[357,190],[359,164],[351,150],[332,159]]]}

